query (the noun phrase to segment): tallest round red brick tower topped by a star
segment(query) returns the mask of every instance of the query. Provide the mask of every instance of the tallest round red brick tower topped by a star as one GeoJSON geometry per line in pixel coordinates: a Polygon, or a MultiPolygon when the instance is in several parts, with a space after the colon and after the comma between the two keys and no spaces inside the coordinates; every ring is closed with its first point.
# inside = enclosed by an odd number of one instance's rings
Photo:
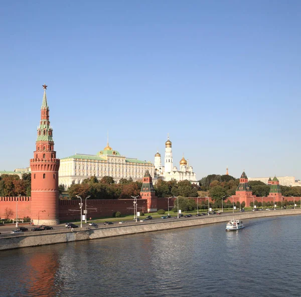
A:
{"type": "Polygon", "coordinates": [[[34,224],[59,224],[59,167],[56,159],[52,127],[49,121],[46,88],[41,107],[41,121],[38,127],[36,151],[34,159],[30,160],[31,168],[31,218],[34,224]]]}

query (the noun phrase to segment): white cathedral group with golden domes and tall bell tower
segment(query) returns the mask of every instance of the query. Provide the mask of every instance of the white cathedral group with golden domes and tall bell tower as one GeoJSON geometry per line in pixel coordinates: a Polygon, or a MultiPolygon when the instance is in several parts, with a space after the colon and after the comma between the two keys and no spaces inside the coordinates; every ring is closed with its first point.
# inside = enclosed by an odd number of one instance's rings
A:
{"type": "Polygon", "coordinates": [[[161,155],[159,152],[155,155],[155,177],[162,178],[164,181],[184,181],[188,180],[192,184],[197,184],[196,174],[193,172],[192,166],[188,165],[184,156],[180,161],[179,170],[176,166],[173,166],[173,151],[172,141],[168,139],[165,142],[165,158],[164,166],[162,166],[161,155]]]}

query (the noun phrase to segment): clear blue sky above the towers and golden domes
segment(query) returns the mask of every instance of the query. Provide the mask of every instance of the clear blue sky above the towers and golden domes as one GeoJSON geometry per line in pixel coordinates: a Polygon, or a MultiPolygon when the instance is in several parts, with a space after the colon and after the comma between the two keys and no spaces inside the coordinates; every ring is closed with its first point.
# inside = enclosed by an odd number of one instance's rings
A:
{"type": "Polygon", "coordinates": [[[167,133],[197,178],[301,179],[300,1],[6,1],[0,170],[29,166],[42,84],[58,158],[154,162],[167,133]]]}

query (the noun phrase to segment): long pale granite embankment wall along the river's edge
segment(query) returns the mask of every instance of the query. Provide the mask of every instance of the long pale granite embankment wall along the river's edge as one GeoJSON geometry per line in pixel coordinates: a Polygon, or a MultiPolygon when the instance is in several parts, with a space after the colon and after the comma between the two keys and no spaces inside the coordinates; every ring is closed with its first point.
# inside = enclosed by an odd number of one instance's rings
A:
{"type": "MultiPolygon", "coordinates": [[[[283,215],[301,215],[301,209],[296,210],[280,210],[280,211],[260,211],[247,212],[242,214],[234,214],[235,219],[253,219],[260,217],[272,217],[283,215]]],[[[233,215],[196,217],[193,219],[170,219],[162,222],[138,222],[132,225],[117,225],[102,228],[78,228],[74,232],[67,229],[48,230],[45,233],[26,232],[23,235],[7,234],[0,235],[0,250],[14,249],[29,246],[38,246],[44,244],[63,243],[77,240],[89,240],[97,238],[105,238],[112,236],[128,235],[143,232],[161,231],[175,228],[199,226],[220,222],[227,222],[232,219],[233,215]]]]}

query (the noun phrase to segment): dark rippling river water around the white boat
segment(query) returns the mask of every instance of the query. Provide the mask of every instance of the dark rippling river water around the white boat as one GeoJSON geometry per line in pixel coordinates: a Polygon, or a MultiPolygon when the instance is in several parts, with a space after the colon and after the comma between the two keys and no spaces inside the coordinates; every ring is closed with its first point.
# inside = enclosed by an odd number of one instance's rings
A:
{"type": "Polygon", "coordinates": [[[0,296],[301,296],[301,216],[0,252],[0,296]]]}

